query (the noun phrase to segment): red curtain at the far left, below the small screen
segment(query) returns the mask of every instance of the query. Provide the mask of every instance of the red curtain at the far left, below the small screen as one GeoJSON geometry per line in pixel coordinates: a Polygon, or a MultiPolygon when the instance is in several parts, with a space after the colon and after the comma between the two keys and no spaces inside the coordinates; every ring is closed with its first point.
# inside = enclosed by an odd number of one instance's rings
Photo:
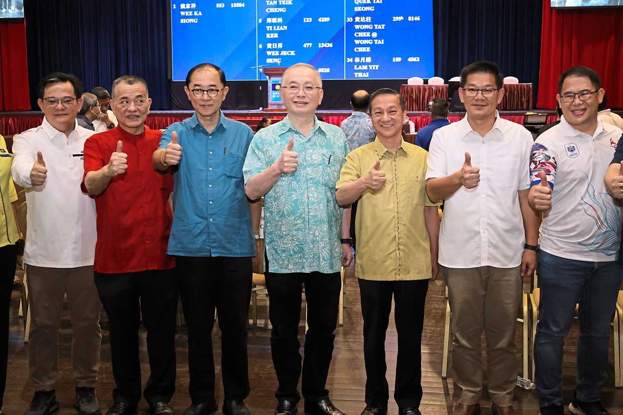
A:
{"type": "Polygon", "coordinates": [[[29,111],[26,23],[0,22],[0,111],[29,111]]]}

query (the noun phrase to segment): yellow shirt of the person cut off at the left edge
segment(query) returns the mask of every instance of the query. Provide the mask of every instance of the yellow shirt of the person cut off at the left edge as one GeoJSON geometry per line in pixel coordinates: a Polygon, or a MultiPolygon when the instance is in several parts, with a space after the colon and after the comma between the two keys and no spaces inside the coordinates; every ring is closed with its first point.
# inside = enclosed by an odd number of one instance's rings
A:
{"type": "Polygon", "coordinates": [[[0,193],[2,194],[2,206],[0,206],[0,247],[14,244],[19,238],[13,216],[11,203],[17,200],[15,185],[11,178],[12,155],[6,149],[4,137],[0,135],[0,193]]]}

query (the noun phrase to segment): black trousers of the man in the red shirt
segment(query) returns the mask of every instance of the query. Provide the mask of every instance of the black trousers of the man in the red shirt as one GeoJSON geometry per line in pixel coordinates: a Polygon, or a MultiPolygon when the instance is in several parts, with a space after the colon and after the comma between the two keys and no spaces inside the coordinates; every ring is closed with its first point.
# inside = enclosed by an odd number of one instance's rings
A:
{"type": "Polygon", "coordinates": [[[95,272],[95,286],[110,324],[110,353],[115,403],[141,400],[141,362],[138,329],[147,329],[150,377],[145,391],[149,403],[169,402],[175,392],[175,323],[178,287],[173,270],[123,274],[95,272]]]}

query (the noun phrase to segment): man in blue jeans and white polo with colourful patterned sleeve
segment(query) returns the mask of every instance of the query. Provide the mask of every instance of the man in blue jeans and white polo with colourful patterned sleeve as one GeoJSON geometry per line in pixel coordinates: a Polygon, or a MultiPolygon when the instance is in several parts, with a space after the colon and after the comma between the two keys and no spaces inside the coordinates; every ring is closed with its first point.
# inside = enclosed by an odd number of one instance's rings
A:
{"type": "Polygon", "coordinates": [[[615,148],[622,131],[597,117],[603,96],[594,70],[566,70],[556,95],[563,117],[532,148],[530,204],[543,211],[537,270],[540,319],[534,345],[542,415],[564,413],[563,345],[576,304],[578,376],[569,411],[608,413],[599,398],[623,271],[617,263],[621,212],[615,200],[623,194],[623,180],[613,180],[621,176],[615,148]]]}

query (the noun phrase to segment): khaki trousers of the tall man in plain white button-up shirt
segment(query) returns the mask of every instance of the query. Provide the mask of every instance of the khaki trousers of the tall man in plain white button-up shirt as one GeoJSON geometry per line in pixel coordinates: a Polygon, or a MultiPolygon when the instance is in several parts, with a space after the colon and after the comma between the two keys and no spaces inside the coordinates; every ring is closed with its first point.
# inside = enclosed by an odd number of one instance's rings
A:
{"type": "Polygon", "coordinates": [[[515,324],[521,302],[519,267],[440,267],[452,312],[452,373],[459,402],[482,395],[480,336],[487,339],[487,388],[497,406],[509,406],[517,381],[515,324]]]}

